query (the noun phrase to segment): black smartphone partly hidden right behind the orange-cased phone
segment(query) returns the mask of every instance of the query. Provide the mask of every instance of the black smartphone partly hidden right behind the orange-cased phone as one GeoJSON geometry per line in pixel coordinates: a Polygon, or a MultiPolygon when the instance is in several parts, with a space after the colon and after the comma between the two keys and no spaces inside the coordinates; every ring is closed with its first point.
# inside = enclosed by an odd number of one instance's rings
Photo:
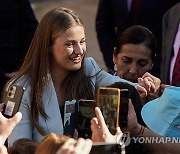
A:
{"type": "Polygon", "coordinates": [[[128,108],[129,108],[129,91],[128,89],[120,89],[120,107],[119,107],[119,126],[127,126],[128,108]]]}

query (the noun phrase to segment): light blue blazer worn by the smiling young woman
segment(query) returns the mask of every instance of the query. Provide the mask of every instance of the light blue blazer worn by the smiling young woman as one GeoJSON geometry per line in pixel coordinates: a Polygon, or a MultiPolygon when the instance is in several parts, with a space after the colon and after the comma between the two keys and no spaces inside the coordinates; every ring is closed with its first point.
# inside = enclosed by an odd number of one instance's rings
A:
{"type": "MultiPolygon", "coordinates": [[[[101,70],[95,60],[91,57],[85,58],[84,67],[86,74],[88,76],[93,76],[91,78],[94,85],[94,90],[100,86],[107,86],[113,84],[114,82],[128,82],[124,79],[119,78],[118,76],[113,76],[104,70],[101,70]],[[100,71],[101,70],[101,71],[100,71]]],[[[57,100],[55,88],[52,82],[51,77],[49,77],[49,82],[44,88],[43,92],[43,105],[48,119],[43,119],[41,116],[38,117],[39,125],[48,133],[57,133],[63,134],[63,123],[61,118],[61,113],[59,110],[59,103],[57,100]]],[[[128,82],[134,86],[137,84],[128,82]]],[[[19,111],[22,113],[22,120],[14,128],[11,135],[8,137],[8,145],[12,146],[14,141],[20,138],[30,138],[34,141],[40,141],[43,136],[41,136],[35,127],[30,118],[30,90],[31,85],[28,80],[28,76],[22,76],[17,82],[17,85],[23,85],[25,91],[22,97],[21,105],[19,111]]]]}

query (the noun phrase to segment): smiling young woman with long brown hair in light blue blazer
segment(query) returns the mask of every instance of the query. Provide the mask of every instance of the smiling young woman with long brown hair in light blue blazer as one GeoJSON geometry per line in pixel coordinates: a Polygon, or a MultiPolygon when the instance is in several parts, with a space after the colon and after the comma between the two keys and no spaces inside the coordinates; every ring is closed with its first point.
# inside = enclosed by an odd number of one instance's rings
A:
{"type": "MultiPolygon", "coordinates": [[[[49,133],[63,134],[65,103],[94,99],[99,86],[128,82],[101,70],[93,58],[85,58],[85,39],[83,22],[70,9],[53,9],[41,20],[23,65],[7,86],[25,88],[19,108],[23,117],[8,138],[9,146],[20,138],[39,141],[49,133]]],[[[69,120],[74,116],[71,107],[69,120]]]]}

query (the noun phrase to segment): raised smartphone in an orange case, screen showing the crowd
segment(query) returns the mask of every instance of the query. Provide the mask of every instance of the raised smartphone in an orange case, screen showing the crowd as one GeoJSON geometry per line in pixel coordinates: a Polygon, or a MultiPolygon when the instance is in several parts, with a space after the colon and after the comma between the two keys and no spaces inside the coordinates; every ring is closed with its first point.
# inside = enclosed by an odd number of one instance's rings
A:
{"type": "Polygon", "coordinates": [[[97,106],[101,109],[106,125],[112,134],[115,134],[119,127],[119,105],[119,88],[98,88],[97,106]]]}

